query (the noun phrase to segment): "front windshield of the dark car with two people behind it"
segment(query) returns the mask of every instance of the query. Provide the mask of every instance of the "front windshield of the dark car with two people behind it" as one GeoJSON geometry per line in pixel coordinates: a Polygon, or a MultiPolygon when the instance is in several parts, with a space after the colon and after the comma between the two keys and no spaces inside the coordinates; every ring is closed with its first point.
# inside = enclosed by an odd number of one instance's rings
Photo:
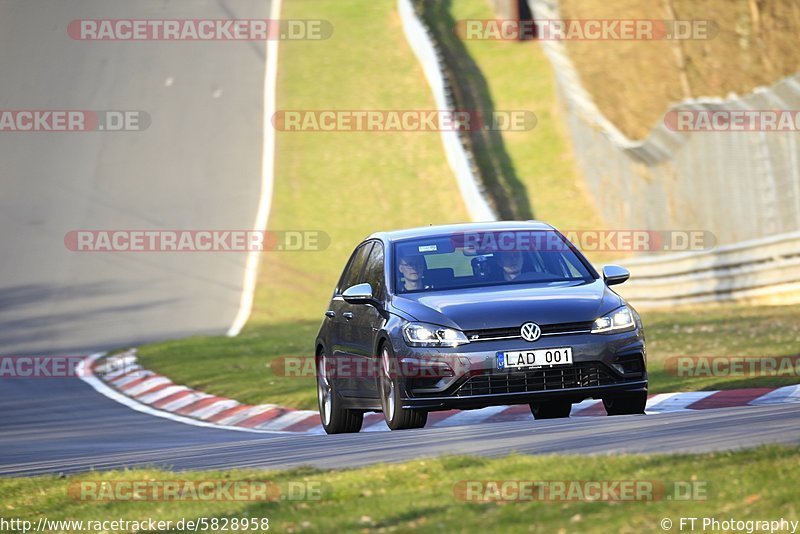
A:
{"type": "Polygon", "coordinates": [[[397,293],[594,280],[573,245],[552,230],[462,232],[394,245],[397,293]]]}

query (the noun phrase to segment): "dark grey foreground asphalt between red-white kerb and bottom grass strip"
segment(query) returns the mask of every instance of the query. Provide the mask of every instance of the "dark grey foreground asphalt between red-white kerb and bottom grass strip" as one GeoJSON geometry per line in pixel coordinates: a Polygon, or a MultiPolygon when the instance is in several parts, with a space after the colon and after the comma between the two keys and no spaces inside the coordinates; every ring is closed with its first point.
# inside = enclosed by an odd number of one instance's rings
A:
{"type": "Polygon", "coordinates": [[[4,380],[0,406],[0,476],[130,466],[334,468],[443,454],[706,452],[800,444],[800,412],[791,404],[337,436],[199,428],[136,412],[77,378],[4,380]]]}

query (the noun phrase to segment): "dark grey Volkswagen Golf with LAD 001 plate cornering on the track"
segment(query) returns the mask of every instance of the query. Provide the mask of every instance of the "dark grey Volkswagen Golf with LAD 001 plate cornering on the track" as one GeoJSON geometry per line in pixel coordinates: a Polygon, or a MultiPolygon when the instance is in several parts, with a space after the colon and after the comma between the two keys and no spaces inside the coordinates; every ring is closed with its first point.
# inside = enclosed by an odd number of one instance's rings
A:
{"type": "Polygon", "coordinates": [[[537,222],[379,232],[356,247],[316,339],[319,410],[329,434],[365,412],[392,430],[428,412],[528,404],[568,417],[602,399],[644,413],[646,349],[636,311],[552,226],[537,222]]]}

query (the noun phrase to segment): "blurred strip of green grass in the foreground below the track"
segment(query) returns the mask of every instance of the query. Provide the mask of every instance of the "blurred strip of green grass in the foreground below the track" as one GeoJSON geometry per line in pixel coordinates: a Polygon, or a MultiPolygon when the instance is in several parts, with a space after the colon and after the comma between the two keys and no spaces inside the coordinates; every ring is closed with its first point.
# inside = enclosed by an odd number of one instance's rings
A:
{"type": "MultiPolygon", "coordinates": [[[[159,470],[0,479],[2,517],[49,519],[155,519],[267,517],[270,532],[502,532],[660,531],[662,518],[798,519],[797,447],[664,456],[449,457],[356,470],[226,471],[175,474],[159,470]],[[67,494],[80,480],[269,480],[279,488],[319,488],[314,500],[278,502],[82,502],[67,494]],[[644,480],[692,482],[705,500],[651,502],[465,502],[460,481],[644,480]],[[306,487],[309,487],[306,486],[306,487]]],[[[673,530],[677,531],[677,528],[673,530]]]]}

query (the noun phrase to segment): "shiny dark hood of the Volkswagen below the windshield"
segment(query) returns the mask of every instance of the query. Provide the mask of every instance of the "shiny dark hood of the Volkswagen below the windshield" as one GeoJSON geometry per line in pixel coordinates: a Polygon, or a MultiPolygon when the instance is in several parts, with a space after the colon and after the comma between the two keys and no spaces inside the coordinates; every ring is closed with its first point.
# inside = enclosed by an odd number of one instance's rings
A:
{"type": "Polygon", "coordinates": [[[603,280],[510,285],[398,295],[392,305],[418,321],[460,330],[594,321],[624,304],[603,280]]]}

